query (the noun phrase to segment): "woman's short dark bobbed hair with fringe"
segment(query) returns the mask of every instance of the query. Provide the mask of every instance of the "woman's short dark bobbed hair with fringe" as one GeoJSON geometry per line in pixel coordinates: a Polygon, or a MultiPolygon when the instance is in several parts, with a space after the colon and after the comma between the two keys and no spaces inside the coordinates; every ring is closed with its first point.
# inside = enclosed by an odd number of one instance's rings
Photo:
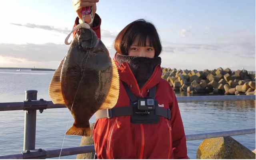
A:
{"type": "Polygon", "coordinates": [[[162,52],[162,45],[156,27],[144,19],[133,21],[126,25],[122,31],[116,36],[114,48],[121,55],[128,55],[128,51],[136,37],[138,37],[138,45],[146,46],[146,40],[149,39],[150,47],[154,47],[155,56],[158,57],[162,52]]]}

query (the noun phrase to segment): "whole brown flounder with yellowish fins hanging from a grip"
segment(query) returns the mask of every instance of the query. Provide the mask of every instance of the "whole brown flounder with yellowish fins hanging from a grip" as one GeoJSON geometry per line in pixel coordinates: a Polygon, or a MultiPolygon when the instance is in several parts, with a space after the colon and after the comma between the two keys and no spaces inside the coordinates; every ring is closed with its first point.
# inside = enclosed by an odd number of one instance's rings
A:
{"type": "Polygon", "coordinates": [[[52,76],[49,96],[54,104],[66,105],[74,117],[66,135],[88,137],[92,115],[117,103],[119,74],[108,49],[87,23],[77,25],[65,43],[71,45],[52,76]],[[77,29],[73,41],[68,43],[77,29]]]}

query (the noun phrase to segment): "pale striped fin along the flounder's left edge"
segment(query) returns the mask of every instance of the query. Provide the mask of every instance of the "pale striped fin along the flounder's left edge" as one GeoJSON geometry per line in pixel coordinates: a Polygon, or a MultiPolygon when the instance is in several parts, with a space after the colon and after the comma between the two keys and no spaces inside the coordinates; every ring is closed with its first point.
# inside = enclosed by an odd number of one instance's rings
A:
{"type": "Polygon", "coordinates": [[[65,104],[62,96],[61,82],[60,82],[61,70],[62,70],[64,59],[60,62],[58,68],[55,70],[49,86],[49,96],[52,100],[52,103],[54,104],[65,104]]]}

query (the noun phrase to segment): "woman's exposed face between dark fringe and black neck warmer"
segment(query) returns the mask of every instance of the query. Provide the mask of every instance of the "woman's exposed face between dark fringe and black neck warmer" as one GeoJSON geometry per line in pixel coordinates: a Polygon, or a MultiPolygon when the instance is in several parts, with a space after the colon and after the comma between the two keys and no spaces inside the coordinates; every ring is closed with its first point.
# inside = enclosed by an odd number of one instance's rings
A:
{"type": "Polygon", "coordinates": [[[136,57],[148,57],[154,58],[155,50],[154,47],[150,47],[149,41],[146,41],[146,47],[138,46],[138,38],[132,43],[131,47],[128,51],[129,56],[136,56],[136,57]]]}

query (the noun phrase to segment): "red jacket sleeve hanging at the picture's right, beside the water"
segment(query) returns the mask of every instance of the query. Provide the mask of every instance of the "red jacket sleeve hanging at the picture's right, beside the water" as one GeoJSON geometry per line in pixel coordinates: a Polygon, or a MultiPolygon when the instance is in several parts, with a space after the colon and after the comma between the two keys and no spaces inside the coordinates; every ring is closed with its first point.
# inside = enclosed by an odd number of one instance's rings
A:
{"type": "Polygon", "coordinates": [[[171,89],[171,97],[172,97],[172,103],[170,104],[170,109],[171,109],[171,124],[172,124],[172,147],[173,147],[174,159],[188,159],[184,126],[183,126],[182,118],[180,115],[178,101],[172,89],[171,89]]]}

